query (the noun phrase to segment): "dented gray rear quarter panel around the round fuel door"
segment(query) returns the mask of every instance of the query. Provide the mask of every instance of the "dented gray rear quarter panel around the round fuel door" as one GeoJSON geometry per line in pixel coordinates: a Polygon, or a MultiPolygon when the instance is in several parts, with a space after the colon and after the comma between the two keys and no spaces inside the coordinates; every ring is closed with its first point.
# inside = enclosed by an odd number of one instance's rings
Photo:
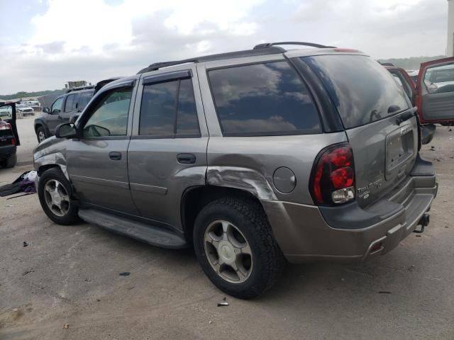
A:
{"type": "Polygon", "coordinates": [[[321,149],[345,142],[345,132],[317,135],[266,137],[211,137],[208,144],[207,183],[238,188],[260,200],[314,204],[309,193],[309,176],[321,149]],[[277,169],[287,168],[292,176],[288,193],[276,187],[277,169]]]}

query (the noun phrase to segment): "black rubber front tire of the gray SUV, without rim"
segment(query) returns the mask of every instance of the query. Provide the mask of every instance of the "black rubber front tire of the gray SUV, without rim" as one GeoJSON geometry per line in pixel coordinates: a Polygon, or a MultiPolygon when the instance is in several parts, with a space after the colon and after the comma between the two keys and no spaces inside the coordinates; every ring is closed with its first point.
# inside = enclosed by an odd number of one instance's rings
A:
{"type": "Polygon", "coordinates": [[[52,168],[45,171],[39,179],[38,182],[38,197],[40,199],[41,207],[43,208],[45,215],[48,215],[50,220],[57,223],[57,225],[74,225],[79,222],[77,202],[72,199],[72,186],[70,181],[68,181],[62,171],[58,168],[52,168]],[[65,188],[67,195],[70,198],[70,204],[67,212],[64,216],[58,216],[50,208],[45,200],[45,185],[52,180],[56,180],[62,184],[65,188]]]}

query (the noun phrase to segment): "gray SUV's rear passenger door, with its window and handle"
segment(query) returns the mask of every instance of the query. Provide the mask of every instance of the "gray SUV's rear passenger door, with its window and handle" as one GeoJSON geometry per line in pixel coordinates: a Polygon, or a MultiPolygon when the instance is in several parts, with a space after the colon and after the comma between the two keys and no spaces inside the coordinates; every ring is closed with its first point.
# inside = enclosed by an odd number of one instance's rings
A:
{"type": "Polygon", "coordinates": [[[140,215],[181,228],[184,191],[204,186],[208,131],[196,68],[143,74],[128,148],[131,193],[140,215]]]}

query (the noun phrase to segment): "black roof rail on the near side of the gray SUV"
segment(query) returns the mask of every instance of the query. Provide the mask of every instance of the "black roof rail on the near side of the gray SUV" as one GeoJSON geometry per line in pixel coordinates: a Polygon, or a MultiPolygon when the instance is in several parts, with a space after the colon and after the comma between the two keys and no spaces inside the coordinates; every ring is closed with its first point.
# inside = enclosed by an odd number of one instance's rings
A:
{"type": "Polygon", "coordinates": [[[198,62],[212,62],[214,60],[224,60],[224,59],[231,59],[231,58],[240,58],[240,57],[253,57],[255,55],[273,55],[277,53],[285,52],[282,47],[263,47],[260,49],[253,49],[253,50],[244,50],[244,51],[236,51],[236,52],[227,52],[227,53],[220,53],[218,55],[204,55],[202,57],[184,59],[184,60],[176,60],[174,62],[155,62],[154,64],[150,64],[150,66],[145,67],[145,69],[141,69],[137,74],[156,71],[157,69],[162,69],[162,67],[169,67],[175,66],[180,64],[189,64],[189,63],[198,63],[198,62]]]}

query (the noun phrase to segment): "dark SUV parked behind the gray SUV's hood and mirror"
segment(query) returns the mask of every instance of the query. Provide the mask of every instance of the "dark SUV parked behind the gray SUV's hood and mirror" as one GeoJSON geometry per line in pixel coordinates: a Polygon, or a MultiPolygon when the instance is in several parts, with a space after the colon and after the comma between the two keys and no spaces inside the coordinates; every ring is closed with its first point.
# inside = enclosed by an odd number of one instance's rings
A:
{"type": "Polygon", "coordinates": [[[55,128],[58,125],[68,122],[74,123],[92,99],[93,94],[105,84],[116,79],[118,77],[99,81],[94,86],[69,89],[65,94],[55,98],[50,108],[43,108],[43,113],[35,118],[35,133],[38,142],[43,142],[46,138],[55,135],[55,128]]]}

